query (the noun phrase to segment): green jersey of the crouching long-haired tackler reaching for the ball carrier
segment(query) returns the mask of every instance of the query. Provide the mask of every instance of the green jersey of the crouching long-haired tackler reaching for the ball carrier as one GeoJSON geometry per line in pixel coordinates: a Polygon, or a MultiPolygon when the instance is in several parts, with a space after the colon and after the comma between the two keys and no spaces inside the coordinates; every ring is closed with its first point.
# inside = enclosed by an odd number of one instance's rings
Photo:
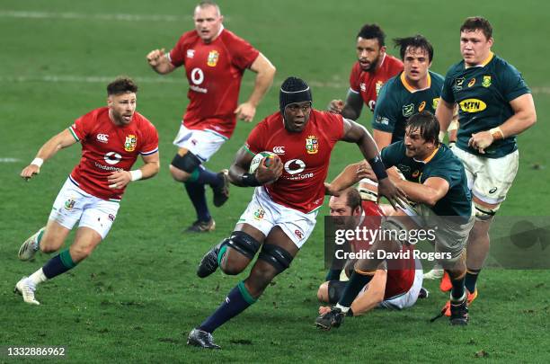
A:
{"type": "Polygon", "coordinates": [[[405,155],[404,142],[399,141],[382,149],[381,156],[386,168],[395,165],[407,181],[423,183],[430,177],[439,177],[448,182],[447,194],[430,207],[436,215],[469,218],[472,214],[472,194],[464,165],[448,146],[440,144],[433,154],[419,161],[405,155]]]}

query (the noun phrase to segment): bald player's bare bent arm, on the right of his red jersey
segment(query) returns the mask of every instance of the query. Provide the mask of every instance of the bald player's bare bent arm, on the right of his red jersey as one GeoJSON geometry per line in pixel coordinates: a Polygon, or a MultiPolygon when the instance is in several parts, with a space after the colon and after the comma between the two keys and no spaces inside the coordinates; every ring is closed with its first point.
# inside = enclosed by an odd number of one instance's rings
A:
{"type": "Polygon", "coordinates": [[[253,92],[248,101],[241,103],[235,109],[237,118],[244,121],[253,120],[256,107],[262,101],[265,93],[270,89],[276,71],[270,60],[263,56],[262,53],[253,61],[250,69],[257,74],[253,92]]]}

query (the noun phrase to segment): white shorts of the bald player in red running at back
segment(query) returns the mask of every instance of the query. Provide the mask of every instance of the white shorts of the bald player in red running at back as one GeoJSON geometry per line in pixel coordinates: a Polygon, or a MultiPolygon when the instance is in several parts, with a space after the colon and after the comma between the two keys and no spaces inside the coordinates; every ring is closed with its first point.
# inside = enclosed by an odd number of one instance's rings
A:
{"type": "Polygon", "coordinates": [[[187,129],[182,124],[173,145],[185,148],[202,162],[207,162],[226,141],[226,137],[215,131],[187,129]]]}

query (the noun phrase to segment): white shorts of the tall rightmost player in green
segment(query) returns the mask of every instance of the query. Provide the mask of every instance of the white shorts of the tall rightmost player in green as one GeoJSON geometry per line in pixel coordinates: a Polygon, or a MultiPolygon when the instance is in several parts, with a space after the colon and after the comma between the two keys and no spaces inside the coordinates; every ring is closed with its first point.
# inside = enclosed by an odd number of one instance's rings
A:
{"type": "Polygon", "coordinates": [[[518,173],[518,150],[501,158],[473,155],[456,146],[452,150],[464,164],[468,187],[476,198],[489,204],[499,204],[506,199],[518,173]]]}

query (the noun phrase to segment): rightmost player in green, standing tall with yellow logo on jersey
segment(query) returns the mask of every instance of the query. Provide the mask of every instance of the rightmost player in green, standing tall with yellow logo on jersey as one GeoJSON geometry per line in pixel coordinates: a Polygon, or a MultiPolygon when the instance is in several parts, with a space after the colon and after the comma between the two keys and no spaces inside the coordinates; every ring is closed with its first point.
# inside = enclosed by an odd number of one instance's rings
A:
{"type": "Polygon", "coordinates": [[[458,105],[453,152],[466,168],[475,203],[475,226],[467,244],[466,289],[477,296],[476,280],[489,252],[492,218],[518,172],[516,136],[537,120],[535,104],[519,71],[491,51],[491,23],[470,17],[460,28],[462,60],[448,70],[436,116],[447,129],[458,105]]]}

